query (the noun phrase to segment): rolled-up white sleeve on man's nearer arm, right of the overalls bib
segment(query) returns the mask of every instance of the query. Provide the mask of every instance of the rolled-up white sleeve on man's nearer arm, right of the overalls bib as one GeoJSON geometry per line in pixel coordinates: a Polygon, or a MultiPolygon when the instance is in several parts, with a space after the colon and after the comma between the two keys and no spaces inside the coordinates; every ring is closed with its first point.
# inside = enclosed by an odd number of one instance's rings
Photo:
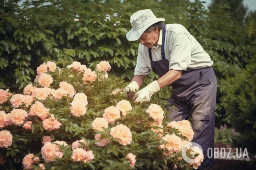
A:
{"type": "Polygon", "coordinates": [[[186,70],[191,62],[192,42],[185,33],[175,35],[170,52],[169,70],[186,70]]]}

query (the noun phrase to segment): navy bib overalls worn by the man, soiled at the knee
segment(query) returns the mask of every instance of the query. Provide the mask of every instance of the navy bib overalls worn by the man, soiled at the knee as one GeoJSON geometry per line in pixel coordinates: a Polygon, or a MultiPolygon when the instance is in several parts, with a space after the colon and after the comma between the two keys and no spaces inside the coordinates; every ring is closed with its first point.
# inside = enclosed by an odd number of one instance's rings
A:
{"type": "MultiPolygon", "coordinates": [[[[152,70],[159,77],[169,71],[169,61],[165,59],[164,52],[165,26],[162,32],[162,59],[152,61],[152,53],[149,49],[152,70]]],[[[180,121],[192,116],[192,129],[194,130],[192,142],[200,144],[204,154],[204,162],[198,169],[205,170],[213,165],[213,156],[212,158],[207,157],[208,148],[212,148],[214,151],[217,80],[213,68],[183,70],[181,78],[173,82],[171,86],[173,87],[172,94],[168,100],[169,105],[166,106],[166,109],[170,110],[169,119],[170,121],[180,121]],[[171,105],[175,105],[177,109],[171,109],[171,105]]]]}

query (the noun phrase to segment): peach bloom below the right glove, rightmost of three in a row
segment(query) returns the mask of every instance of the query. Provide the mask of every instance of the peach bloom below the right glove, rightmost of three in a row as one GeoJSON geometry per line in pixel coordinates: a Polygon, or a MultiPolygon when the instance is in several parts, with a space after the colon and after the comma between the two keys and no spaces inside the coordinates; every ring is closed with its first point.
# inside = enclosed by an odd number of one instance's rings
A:
{"type": "Polygon", "coordinates": [[[157,104],[151,104],[147,110],[149,117],[153,118],[155,121],[161,122],[163,120],[163,109],[157,104]]]}

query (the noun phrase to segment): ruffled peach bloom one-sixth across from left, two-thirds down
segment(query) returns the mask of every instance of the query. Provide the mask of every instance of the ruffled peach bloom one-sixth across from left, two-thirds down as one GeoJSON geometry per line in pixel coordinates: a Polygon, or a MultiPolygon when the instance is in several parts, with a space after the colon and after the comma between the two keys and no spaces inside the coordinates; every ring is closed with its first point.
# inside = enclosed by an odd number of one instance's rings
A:
{"type": "Polygon", "coordinates": [[[36,115],[44,120],[48,117],[50,109],[44,107],[43,103],[36,101],[30,108],[29,115],[36,115]]]}

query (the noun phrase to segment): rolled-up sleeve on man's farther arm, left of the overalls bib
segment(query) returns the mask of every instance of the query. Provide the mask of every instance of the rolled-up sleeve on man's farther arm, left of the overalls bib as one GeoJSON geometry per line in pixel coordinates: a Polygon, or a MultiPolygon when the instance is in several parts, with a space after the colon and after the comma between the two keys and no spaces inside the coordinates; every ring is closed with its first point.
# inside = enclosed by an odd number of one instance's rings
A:
{"type": "Polygon", "coordinates": [[[137,63],[134,69],[134,75],[147,76],[151,73],[151,69],[147,66],[144,56],[142,55],[142,49],[138,48],[137,63]]]}

